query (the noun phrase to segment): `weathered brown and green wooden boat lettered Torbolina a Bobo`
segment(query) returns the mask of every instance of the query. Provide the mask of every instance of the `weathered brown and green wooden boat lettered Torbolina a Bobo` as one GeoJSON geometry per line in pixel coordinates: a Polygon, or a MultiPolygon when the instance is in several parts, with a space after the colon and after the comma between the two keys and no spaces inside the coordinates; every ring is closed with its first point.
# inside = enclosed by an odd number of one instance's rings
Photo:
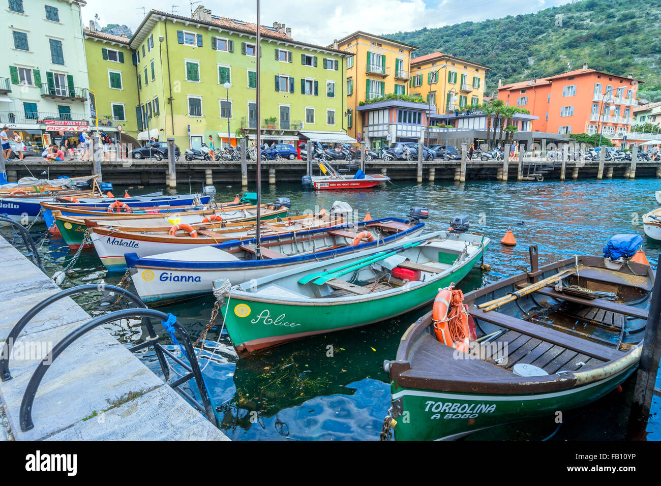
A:
{"type": "Polygon", "coordinates": [[[436,339],[432,313],[407,329],[397,359],[384,363],[395,440],[460,438],[534,417],[555,423],[600,399],[638,366],[653,282],[649,266],[613,269],[601,257],[538,269],[532,247],[529,272],[466,294],[477,331],[467,353],[436,339]]]}

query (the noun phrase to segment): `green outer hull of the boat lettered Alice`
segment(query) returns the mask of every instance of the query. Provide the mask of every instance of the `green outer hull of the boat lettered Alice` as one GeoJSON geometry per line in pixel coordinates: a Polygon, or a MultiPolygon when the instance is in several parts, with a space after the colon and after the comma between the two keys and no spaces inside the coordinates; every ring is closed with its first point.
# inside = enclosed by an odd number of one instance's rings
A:
{"type": "Polygon", "coordinates": [[[301,337],[385,321],[432,302],[439,288],[459,282],[481,257],[481,252],[476,253],[453,272],[428,284],[372,298],[283,304],[282,300],[230,295],[222,309],[225,327],[237,353],[242,355],[301,337]]]}

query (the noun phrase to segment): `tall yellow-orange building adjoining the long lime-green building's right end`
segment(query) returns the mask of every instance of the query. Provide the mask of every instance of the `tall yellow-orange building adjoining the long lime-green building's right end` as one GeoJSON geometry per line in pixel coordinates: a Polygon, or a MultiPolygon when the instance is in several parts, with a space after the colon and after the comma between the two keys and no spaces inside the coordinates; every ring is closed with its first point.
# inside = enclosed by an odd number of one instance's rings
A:
{"type": "Polygon", "coordinates": [[[357,139],[361,134],[364,140],[358,106],[391,93],[408,95],[410,55],[417,48],[360,30],[329,47],[354,54],[346,64],[346,126],[349,136],[357,139]]]}

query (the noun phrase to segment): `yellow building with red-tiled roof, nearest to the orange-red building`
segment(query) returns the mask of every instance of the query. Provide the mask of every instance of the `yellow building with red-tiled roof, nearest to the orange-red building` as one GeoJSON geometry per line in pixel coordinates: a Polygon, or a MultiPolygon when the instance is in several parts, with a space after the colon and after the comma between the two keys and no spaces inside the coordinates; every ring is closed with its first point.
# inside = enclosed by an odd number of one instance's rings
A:
{"type": "Polygon", "coordinates": [[[446,114],[482,104],[488,67],[433,52],[410,61],[410,95],[420,95],[446,114]]]}

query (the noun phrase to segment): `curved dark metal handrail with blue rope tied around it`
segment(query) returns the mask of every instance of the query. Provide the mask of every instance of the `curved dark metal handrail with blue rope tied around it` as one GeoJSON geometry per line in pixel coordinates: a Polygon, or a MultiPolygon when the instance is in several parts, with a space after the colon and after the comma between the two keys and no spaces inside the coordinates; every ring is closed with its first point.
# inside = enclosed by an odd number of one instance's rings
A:
{"type": "MultiPolygon", "coordinates": [[[[134,302],[136,302],[136,300],[139,300],[139,298],[137,298],[136,296],[133,296],[133,298],[134,298],[134,302]]],[[[88,321],[84,325],[77,327],[77,329],[71,331],[71,333],[63,337],[63,339],[61,339],[61,341],[59,341],[59,343],[54,346],[54,348],[48,353],[48,355],[38,364],[36,370],[34,370],[34,373],[32,374],[30,381],[28,382],[25,392],[23,393],[22,401],[20,403],[20,411],[19,411],[20,430],[26,432],[27,430],[34,428],[34,423],[32,422],[32,405],[34,404],[34,397],[36,396],[36,392],[39,388],[42,379],[44,378],[44,375],[50,369],[50,366],[54,363],[54,361],[58,358],[58,356],[67,347],[69,347],[69,345],[71,345],[77,339],[79,339],[79,337],[82,337],[83,335],[97,328],[98,326],[106,324],[108,322],[116,321],[117,319],[128,319],[129,317],[147,317],[147,318],[153,317],[161,321],[167,321],[167,319],[169,319],[168,314],[154,309],[146,309],[146,308],[122,309],[119,311],[114,311],[109,314],[95,317],[95,319],[92,319],[91,321],[88,321]]],[[[176,358],[174,354],[172,354],[169,350],[167,350],[161,344],[158,343],[157,341],[158,337],[155,334],[155,331],[153,329],[153,324],[151,323],[150,319],[145,319],[145,324],[147,325],[147,330],[149,331],[149,340],[145,341],[145,343],[132,346],[131,348],[129,348],[129,351],[136,352],[137,350],[141,350],[150,345],[153,345],[154,349],[157,350],[157,352],[160,351],[163,354],[167,354],[167,356],[173,358],[173,360],[175,360],[177,364],[182,366],[188,372],[188,374],[181,376],[181,378],[178,378],[177,380],[175,380],[175,382],[170,383],[169,386],[175,389],[175,391],[180,393],[180,395],[182,395],[188,401],[190,401],[190,403],[192,403],[194,407],[196,407],[200,412],[204,413],[207,419],[211,423],[213,423],[215,426],[219,426],[217,421],[217,416],[215,415],[214,404],[212,403],[211,397],[209,396],[209,391],[206,387],[206,384],[204,383],[204,378],[202,378],[202,371],[200,370],[200,365],[198,364],[198,360],[195,356],[194,348],[190,343],[190,339],[188,338],[188,333],[186,333],[186,329],[184,329],[184,327],[178,321],[175,321],[175,323],[173,324],[173,327],[175,328],[175,332],[178,334],[180,340],[182,341],[182,346],[184,347],[184,351],[186,352],[186,358],[188,358],[189,365],[186,365],[186,363],[184,363],[182,360],[176,358]],[[190,380],[190,378],[194,378],[196,385],[198,385],[198,389],[200,391],[200,397],[202,398],[202,403],[198,402],[194,397],[192,397],[192,395],[186,393],[186,391],[180,388],[180,385],[190,380]]],[[[161,366],[163,367],[163,364],[161,364],[161,366]]],[[[163,367],[164,374],[167,369],[168,367],[166,363],[166,366],[163,367]]],[[[169,377],[169,374],[167,376],[169,377]]],[[[167,380],[169,380],[169,378],[167,378],[166,381],[167,380]]]]}

